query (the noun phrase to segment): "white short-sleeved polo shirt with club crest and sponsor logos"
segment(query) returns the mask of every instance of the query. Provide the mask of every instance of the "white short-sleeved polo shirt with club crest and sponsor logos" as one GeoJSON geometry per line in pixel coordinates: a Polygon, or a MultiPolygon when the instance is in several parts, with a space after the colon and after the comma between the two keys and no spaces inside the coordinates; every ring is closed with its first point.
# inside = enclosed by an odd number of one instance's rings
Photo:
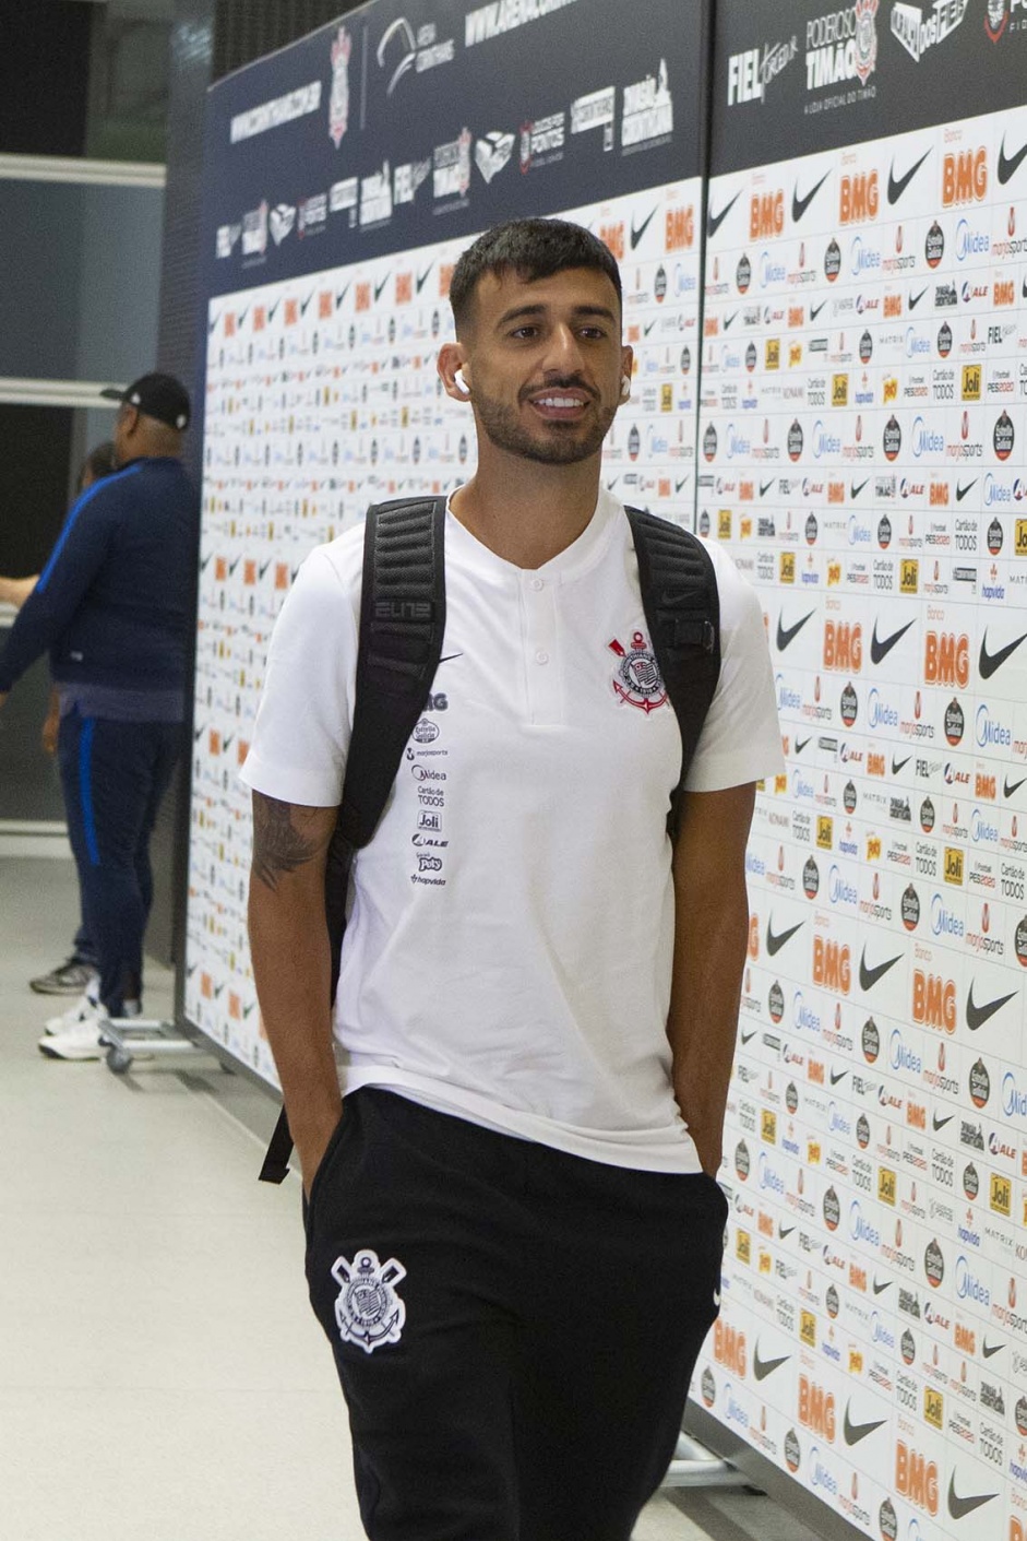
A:
{"type": "MultiPolygon", "coordinates": [[[[722,667],[688,787],[776,775],[762,615],[711,547],[722,667]]],[[[305,561],[276,624],[243,781],[336,806],[353,721],[363,530],[305,561]]],[[[699,1171],[667,1040],[667,837],[681,734],[622,505],[537,570],[447,515],[431,701],[353,874],[336,1005],[343,1091],[619,1167],[699,1171]]]]}

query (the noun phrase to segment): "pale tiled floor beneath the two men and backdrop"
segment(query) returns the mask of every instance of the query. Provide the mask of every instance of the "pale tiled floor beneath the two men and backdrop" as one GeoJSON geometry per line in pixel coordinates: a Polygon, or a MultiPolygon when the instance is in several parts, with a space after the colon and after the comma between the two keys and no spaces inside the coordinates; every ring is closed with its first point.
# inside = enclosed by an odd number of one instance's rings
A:
{"type": "MultiPolygon", "coordinates": [[[[274,1106],[206,1059],[43,1059],[26,982],[74,922],[68,863],[0,860],[0,1536],[360,1541],[299,1185],[256,1182],[274,1106]]],[[[744,1493],[677,1502],[636,1541],[808,1535],[744,1493]]]]}

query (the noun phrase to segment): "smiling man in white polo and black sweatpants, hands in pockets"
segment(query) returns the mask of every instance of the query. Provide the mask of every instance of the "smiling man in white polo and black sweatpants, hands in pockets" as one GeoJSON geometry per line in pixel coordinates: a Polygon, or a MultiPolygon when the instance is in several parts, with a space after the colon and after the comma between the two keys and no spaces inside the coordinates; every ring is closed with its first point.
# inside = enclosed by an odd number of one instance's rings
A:
{"type": "Polygon", "coordinates": [[[513,222],[463,254],[451,304],[439,374],[477,472],[447,512],[431,700],[354,863],[334,1042],[360,530],[308,558],[271,644],[243,772],[254,971],[368,1536],[628,1541],[719,1308],[771,670],[714,550],[721,675],[671,838],[681,732],[622,669],[647,623],[599,485],[631,381],[616,262],[579,227],[513,222]]]}

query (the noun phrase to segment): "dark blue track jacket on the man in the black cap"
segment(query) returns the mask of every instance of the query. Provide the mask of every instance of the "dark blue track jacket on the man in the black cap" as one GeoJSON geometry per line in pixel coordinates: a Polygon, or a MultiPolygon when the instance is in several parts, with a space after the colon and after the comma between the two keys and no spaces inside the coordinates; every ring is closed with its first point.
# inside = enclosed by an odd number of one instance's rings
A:
{"type": "Polygon", "coordinates": [[[185,686],[199,498],[177,459],[146,458],[71,505],[0,656],[6,693],[46,649],[57,684],[185,686]]]}

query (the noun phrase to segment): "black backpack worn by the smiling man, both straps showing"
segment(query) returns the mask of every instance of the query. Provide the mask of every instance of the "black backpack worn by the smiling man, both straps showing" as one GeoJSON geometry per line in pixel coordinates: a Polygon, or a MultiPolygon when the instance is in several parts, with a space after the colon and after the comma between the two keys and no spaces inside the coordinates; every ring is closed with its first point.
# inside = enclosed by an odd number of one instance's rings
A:
{"type": "MultiPolygon", "coordinates": [[[[354,851],[366,846],[388,801],[403,750],[436,676],[445,632],[445,498],[406,498],[368,509],[353,735],[325,871],[331,999],[339,985],[346,891],[354,851]]],[[[721,604],[713,561],[688,530],[627,509],[650,641],[682,738],[670,826],[721,673],[721,604]]],[[[285,1108],[260,1170],[283,1182],[293,1151],[285,1108]]]]}

